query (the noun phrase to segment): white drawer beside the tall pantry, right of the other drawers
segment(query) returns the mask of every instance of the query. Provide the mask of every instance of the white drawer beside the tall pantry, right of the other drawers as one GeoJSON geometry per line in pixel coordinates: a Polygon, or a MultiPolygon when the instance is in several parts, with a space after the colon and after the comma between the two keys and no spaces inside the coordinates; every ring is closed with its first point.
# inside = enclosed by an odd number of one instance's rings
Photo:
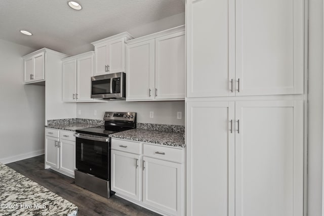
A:
{"type": "Polygon", "coordinates": [[[170,160],[182,163],[183,149],[174,149],[164,146],[155,146],[150,144],[143,145],[143,155],[148,157],[155,157],[158,159],[170,160]]]}

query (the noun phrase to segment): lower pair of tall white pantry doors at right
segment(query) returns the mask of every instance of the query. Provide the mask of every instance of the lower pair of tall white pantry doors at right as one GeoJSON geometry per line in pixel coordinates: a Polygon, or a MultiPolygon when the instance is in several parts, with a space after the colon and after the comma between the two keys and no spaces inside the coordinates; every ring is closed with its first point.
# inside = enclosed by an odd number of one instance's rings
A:
{"type": "Polygon", "coordinates": [[[186,108],[187,215],[303,215],[302,101],[186,108]]]}

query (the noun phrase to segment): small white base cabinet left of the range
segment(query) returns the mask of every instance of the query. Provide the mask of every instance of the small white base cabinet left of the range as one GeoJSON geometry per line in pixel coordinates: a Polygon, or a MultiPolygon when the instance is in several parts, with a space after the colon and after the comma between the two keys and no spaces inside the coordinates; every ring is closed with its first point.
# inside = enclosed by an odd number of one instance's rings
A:
{"type": "Polygon", "coordinates": [[[45,168],[52,168],[74,178],[75,138],[74,132],[45,129],[45,168]]]}

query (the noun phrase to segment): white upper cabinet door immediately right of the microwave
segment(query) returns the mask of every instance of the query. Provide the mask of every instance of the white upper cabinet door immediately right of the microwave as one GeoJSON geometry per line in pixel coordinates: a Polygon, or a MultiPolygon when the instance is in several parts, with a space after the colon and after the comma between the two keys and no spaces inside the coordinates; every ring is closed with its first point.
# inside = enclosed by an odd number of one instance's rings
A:
{"type": "Polygon", "coordinates": [[[153,99],[154,40],[127,46],[127,100],[153,99]]]}

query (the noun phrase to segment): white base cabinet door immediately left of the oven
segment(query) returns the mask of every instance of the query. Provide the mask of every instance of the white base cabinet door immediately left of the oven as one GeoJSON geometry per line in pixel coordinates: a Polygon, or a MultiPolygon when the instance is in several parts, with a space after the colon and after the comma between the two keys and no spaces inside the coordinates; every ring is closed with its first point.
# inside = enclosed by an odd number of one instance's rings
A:
{"type": "Polygon", "coordinates": [[[75,142],[60,140],[60,170],[74,176],[75,142]]]}

